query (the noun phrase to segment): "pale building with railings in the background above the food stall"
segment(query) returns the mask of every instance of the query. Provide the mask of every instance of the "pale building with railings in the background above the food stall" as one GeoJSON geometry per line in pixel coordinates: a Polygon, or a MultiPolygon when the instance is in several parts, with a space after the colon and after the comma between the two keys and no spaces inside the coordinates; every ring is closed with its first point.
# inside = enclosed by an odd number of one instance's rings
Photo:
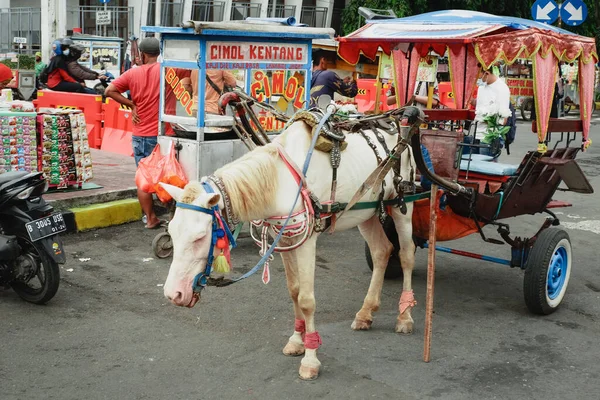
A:
{"type": "MultiPolygon", "coordinates": [[[[160,25],[183,21],[230,21],[247,17],[290,17],[314,27],[340,32],[347,0],[161,0],[160,25]]],[[[13,38],[27,39],[23,53],[50,55],[55,38],[81,32],[126,39],[141,36],[141,27],[155,25],[156,0],[109,0],[109,24],[98,24],[99,0],[0,0],[0,55],[18,51],[13,38]]]]}

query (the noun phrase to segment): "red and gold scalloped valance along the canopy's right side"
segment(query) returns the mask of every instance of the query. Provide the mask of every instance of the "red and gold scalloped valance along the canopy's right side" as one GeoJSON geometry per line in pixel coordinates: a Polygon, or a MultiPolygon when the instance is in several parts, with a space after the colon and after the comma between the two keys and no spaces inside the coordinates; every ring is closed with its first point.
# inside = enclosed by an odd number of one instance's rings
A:
{"type": "Polygon", "coordinates": [[[500,58],[512,64],[519,57],[529,58],[536,53],[546,57],[550,52],[561,61],[571,62],[580,57],[586,63],[598,61],[594,38],[566,36],[538,28],[480,37],[473,43],[477,58],[486,67],[500,58]]]}

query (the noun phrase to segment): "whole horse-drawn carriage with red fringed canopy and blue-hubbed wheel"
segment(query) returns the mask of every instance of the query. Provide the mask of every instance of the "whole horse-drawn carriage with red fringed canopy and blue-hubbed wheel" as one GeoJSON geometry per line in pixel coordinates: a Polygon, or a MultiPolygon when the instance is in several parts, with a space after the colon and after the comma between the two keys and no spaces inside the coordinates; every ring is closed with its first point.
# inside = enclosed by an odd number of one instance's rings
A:
{"type": "MultiPolygon", "coordinates": [[[[425,110],[428,118],[424,129],[412,137],[420,173],[434,183],[434,188],[440,188],[439,193],[431,193],[430,198],[414,203],[415,243],[418,247],[431,247],[430,251],[434,248],[522,269],[529,310],[536,314],[554,312],[567,289],[573,260],[569,235],[552,212],[570,204],[553,200],[553,196],[557,190],[593,192],[575,157],[591,143],[588,135],[594,64],[598,60],[594,40],[533,21],[450,10],[369,21],[365,27],[340,39],[339,52],[346,60],[356,60],[361,53],[374,57],[374,49],[378,47],[392,54],[396,76],[404,77],[396,82],[404,95],[402,104],[414,88],[415,60],[431,50],[439,54],[447,52],[455,100],[458,108],[465,108],[425,110]],[[493,157],[474,154],[477,147],[488,145],[473,146],[469,144],[472,141],[466,140],[477,123],[475,114],[466,110],[470,94],[481,66],[488,68],[498,61],[510,65],[525,56],[534,66],[537,120],[533,121],[532,130],[537,133],[538,148],[527,152],[519,165],[491,162],[493,157]],[[580,120],[549,118],[560,61],[579,65],[583,104],[580,120]],[[428,168],[428,160],[423,158],[421,144],[428,150],[432,167],[428,168]],[[548,214],[548,218],[530,238],[513,236],[508,224],[502,222],[538,213],[548,214]],[[484,234],[482,228],[486,225],[496,227],[502,240],[484,234]],[[508,244],[510,256],[499,259],[435,244],[470,234],[478,234],[487,243],[508,244]]],[[[391,221],[386,221],[385,230],[398,246],[391,221]]],[[[368,246],[366,256],[372,264],[368,246]]],[[[432,278],[432,254],[429,260],[432,278]]],[[[400,260],[392,256],[386,276],[401,274],[400,260]]]]}

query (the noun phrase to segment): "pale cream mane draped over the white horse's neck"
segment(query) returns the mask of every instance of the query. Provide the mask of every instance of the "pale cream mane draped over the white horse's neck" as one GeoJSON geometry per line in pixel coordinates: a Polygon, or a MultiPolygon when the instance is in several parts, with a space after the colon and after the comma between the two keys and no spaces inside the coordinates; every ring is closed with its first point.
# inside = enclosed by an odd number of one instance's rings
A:
{"type": "Polygon", "coordinates": [[[241,221],[262,215],[275,201],[278,158],[275,145],[268,144],[215,171],[225,185],[232,211],[241,221]]]}

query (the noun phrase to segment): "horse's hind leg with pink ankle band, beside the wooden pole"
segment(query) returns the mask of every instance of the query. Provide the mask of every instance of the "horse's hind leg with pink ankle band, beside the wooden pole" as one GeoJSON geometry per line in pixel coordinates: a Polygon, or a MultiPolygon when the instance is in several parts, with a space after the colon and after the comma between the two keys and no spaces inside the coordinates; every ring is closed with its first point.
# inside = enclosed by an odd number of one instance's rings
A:
{"type": "Polygon", "coordinates": [[[403,215],[398,208],[392,208],[392,219],[398,232],[400,263],[404,274],[399,304],[400,313],[396,322],[396,332],[398,333],[412,333],[414,321],[411,310],[417,304],[412,290],[412,271],[415,265],[415,243],[412,237],[413,204],[408,203],[406,206],[406,215],[403,215]]]}

